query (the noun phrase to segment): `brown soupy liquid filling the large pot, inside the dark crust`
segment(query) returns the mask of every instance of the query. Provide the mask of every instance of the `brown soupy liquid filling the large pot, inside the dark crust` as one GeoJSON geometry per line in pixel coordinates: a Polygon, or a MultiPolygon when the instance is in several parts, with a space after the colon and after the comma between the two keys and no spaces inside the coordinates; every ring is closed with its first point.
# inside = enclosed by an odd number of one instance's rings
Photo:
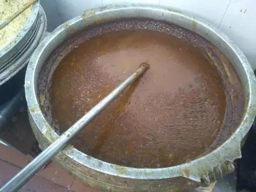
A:
{"type": "Polygon", "coordinates": [[[197,48],[154,31],[114,31],[71,51],[52,81],[52,115],[67,130],[141,62],[151,68],[86,127],[72,144],[106,162],[177,165],[209,150],[226,97],[217,70],[197,48]]]}

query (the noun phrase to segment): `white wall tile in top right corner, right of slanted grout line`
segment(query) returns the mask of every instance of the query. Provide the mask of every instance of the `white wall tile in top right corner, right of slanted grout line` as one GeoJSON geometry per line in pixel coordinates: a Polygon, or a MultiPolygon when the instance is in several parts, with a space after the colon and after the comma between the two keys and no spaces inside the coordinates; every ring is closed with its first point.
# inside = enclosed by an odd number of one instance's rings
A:
{"type": "Polygon", "coordinates": [[[232,0],[220,25],[220,30],[244,52],[256,69],[256,1],[232,0]]]}

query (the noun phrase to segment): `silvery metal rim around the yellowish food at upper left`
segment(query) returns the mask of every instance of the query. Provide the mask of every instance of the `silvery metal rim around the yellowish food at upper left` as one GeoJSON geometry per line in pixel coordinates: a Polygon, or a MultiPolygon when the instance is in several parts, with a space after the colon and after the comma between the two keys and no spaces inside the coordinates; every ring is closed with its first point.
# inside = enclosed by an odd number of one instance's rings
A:
{"type": "Polygon", "coordinates": [[[23,28],[0,50],[0,85],[28,63],[29,57],[45,34],[46,26],[45,12],[37,1],[32,5],[23,28]]]}

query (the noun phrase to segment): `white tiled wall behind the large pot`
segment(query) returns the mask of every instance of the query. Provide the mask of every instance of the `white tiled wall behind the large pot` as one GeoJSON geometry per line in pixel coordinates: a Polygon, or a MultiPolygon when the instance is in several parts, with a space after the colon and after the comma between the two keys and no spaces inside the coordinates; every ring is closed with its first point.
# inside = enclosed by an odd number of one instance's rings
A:
{"type": "MultiPolygon", "coordinates": [[[[81,14],[84,9],[132,3],[170,7],[195,15],[219,28],[236,42],[252,68],[256,69],[256,0],[41,0],[46,12],[61,17],[59,22],[81,14]],[[53,6],[56,8],[55,12],[47,11],[52,10],[53,6]]],[[[60,23],[56,24],[56,19],[48,18],[48,24],[56,26],[60,23]]]]}

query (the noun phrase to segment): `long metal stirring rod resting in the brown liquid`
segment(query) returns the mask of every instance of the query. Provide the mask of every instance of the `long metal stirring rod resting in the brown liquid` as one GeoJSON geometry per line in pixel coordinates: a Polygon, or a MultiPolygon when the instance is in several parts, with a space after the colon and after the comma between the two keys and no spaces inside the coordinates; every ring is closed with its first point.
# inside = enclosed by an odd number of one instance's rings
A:
{"type": "Polygon", "coordinates": [[[31,177],[34,176],[38,170],[49,162],[59,151],[69,144],[81,130],[84,129],[97,115],[102,112],[111,101],[113,101],[121,92],[130,86],[140,75],[150,68],[148,63],[143,62],[139,68],[127,77],[116,89],[114,89],[108,96],[103,98],[96,104],[86,115],[82,116],[75,124],[73,124],[65,133],[42,151],[33,161],[14,176],[8,183],[6,183],[0,192],[14,192],[26,184],[31,177]]]}

